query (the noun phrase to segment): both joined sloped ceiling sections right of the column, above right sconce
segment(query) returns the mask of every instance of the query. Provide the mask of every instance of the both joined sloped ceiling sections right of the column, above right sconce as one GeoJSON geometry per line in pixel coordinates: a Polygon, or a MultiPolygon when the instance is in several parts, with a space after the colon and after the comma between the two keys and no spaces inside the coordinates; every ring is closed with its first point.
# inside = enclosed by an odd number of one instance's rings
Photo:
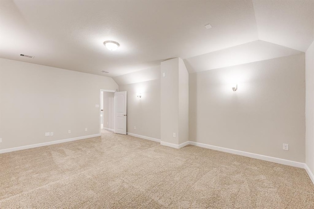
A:
{"type": "Polygon", "coordinates": [[[259,40],[184,59],[189,73],[306,52],[314,41],[314,0],[253,0],[259,40]]]}

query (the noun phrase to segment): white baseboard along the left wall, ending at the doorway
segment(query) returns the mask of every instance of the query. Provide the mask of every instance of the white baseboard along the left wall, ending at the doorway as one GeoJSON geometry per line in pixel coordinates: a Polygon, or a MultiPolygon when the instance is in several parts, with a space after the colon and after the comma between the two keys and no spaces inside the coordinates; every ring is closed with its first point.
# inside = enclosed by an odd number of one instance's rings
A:
{"type": "Polygon", "coordinates": [[[93,134],[93,135],[79,136],[75,138],[62,139],[62,140],[57,140],[57,141],[49,141],[49,142],[44,142],[44,143],[39,143],[39,144],[31,144],[31,145],[26,145],[26,146],[21,146],[21,147],[13,147],[9,149],[0,150],[0,154],[19,151],[19,150],[26,150],[26,149],[35,148],[35,147],[43,147],[43,146],[52,145],[52,144],[60,144],[60,143],[76,141],[80,139],[93,138],[93,137],[98,137],[98,136],[101,136],[101,135],[98,133],[98,134],[93,134]]]}

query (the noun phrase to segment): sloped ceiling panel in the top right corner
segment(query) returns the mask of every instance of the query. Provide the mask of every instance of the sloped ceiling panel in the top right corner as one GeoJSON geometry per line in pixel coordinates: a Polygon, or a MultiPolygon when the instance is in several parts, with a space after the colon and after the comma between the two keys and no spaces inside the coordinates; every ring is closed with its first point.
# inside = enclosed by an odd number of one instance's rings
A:
{"type": "Polygon", "coordinates": [[[314,0],[253,0],[259,39],[306,52],[314,36],[314,0]]]}

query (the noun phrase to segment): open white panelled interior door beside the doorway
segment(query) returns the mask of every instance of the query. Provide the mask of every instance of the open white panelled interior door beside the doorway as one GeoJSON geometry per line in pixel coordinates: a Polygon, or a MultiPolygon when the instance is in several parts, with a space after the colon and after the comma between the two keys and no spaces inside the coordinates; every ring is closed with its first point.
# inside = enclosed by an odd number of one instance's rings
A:
{"type": "Polygon", "coordinates": [[[114,132],[127,134],[127,92],[114,93],[114,132]]]}

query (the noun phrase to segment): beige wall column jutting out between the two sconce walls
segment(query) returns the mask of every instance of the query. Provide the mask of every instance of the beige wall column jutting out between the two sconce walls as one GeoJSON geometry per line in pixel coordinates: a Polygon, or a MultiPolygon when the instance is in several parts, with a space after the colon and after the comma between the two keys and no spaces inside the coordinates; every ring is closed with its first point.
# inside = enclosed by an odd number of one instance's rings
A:
{"type": "Polygon", "coordinates": [[[161,62],[161,141],[182,144],[188,141],[188,72],[183,60],[161,62]],[[176,137],[173,137],[176,133],[176,137]]]}

